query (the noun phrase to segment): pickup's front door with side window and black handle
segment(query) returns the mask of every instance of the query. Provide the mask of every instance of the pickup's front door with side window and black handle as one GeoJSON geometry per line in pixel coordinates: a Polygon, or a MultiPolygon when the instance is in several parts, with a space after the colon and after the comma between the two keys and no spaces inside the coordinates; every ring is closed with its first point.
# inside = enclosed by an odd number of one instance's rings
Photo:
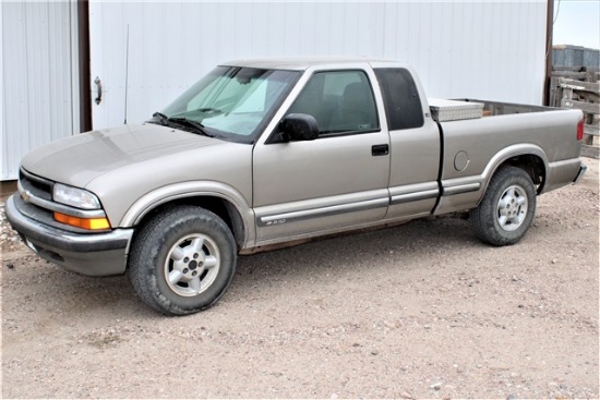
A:
{"type": "Polygon", "coordinates": [[[256,244],[333,233],[384,218],[389,135],[380,124],[383,117],[368,73],[314,73],[289,113],[313,116],[320,136],[255,146],[256,244]]]}

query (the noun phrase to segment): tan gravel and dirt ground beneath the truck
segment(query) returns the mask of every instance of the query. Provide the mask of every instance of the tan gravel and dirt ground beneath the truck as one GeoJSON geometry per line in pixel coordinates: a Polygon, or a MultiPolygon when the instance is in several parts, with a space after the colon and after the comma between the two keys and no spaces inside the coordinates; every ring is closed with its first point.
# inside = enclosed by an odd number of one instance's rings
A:
{"type": "MultiPolygon", "coordinates": [[[[423,219],[241,257],[163,317],[40,260],[2,218],[3,398],[598,398],[598,161],[517,245],[423,219]]],[[[2,209],[3,210],[3,209],[2,209]]]]}

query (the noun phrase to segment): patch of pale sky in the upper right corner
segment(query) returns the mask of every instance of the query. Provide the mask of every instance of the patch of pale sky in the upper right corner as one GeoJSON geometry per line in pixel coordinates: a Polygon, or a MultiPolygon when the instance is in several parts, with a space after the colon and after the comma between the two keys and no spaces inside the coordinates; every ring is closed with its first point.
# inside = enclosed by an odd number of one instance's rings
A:
{"type": "Polygon", "coordinates": [[[554,0],[554,45],[600,49],[600,0],[554,0]]]}

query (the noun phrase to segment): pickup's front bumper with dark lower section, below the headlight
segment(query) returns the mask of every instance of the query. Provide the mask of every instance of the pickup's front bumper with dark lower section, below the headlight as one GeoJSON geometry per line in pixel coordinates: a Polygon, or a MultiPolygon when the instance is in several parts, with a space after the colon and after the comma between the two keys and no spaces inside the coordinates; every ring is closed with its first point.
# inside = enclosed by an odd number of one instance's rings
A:
{"type": "Polygon", "coordinates": [[[7,219],[41,258],[69,270],[94,277],[121,275],[133,229],[105,233],[73,233],[35,221],[19,210],[14,196],[4,205],[7,219]]]}

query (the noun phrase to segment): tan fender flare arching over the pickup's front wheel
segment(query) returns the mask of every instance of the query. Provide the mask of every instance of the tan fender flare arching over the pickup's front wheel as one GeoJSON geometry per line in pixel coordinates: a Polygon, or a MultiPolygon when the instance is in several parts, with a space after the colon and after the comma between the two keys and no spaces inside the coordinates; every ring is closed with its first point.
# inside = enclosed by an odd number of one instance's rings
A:
{"type": "Polygon", "coordinates": [[[219,197],[232,205],[242,218],[245,238],[243,247],[254,245],[256,231],[254,229],[254,211],[252,207],[250,207],[240,192],[229,185],[214,181],[173,183],[146,193],[128,209],[119,226],[122,228],[133,227],[147,213],[161,204],[173,199],[199,196],[219,197]]]}

